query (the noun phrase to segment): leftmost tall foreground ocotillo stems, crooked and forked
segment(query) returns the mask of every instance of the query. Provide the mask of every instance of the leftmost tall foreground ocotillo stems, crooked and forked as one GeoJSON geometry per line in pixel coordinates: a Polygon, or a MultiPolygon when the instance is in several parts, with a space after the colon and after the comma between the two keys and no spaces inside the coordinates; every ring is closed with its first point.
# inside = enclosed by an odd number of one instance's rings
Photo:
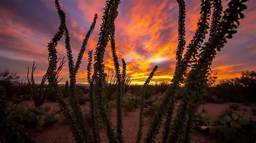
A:
{"type": "Polygon", "coordinates": [[[95,27],[96,24],[96,19],[97,19],[97,14],[95,15],[95,18],[93,19],[93,23],[89,29],[89,31],[86,34],[86,37],[83,41],[82,48],[80,49],[78,59],[76,62],[76,65],[73,62],[73,57],[72,57],[72,51],[70,47],[70,38],[69,38],[69,31],[68,28],[65,24],[65,13],[60,9],[59,2],[56,0],[56,8],[58,10],[58,15],[60,18],[60,26],[59,26],[59,31],[55,34],[55,37],[52,38],[52,41],[48,45],[48,51],[49,51],[49,68],[48,68],[48,81],[55,90],[55,94],[57,96],[60,109],[63,111],[65,117],[70,121],[70,127],[71,131],[75,137],[75,139],[78,142],[87,142],[88,137],[87,135],[89,134],[89,131],[86,130],[86,125],[85,125],[85,120],[83,119],[82,111],[78,105],[78,99],[75,96],[75,84],[76,84],[76,73],[79,69],[80,66],[80,61],[82,60],[82,55],[84,54],[85,51],[85,46],[87,44],[87,41],[90,37],[90,34],[93,31],[93,28],[95,27]],[[70,106],[65,103],[64,99],[60,96],[60,92],[58,90],[58,81],[56,78],[56,70],[57,70],[57,51],[56,51],[56,46],[57,42],[60,40],[62,35],[65,34],[65,47],[68,55],[68,60],[69,60],[69,74],[70,74],[70,106]]]}

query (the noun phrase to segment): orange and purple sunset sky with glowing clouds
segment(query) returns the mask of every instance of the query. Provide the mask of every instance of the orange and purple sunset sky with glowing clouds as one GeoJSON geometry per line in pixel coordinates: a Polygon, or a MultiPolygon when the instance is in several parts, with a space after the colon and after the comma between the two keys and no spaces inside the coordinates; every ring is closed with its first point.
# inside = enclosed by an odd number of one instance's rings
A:
{"type": "MultiPolygon", "coordinates": [[[[99,25],[105,1],[60,0],[67,16],[71,34],[73,56],[77,57],[82,40],[98,13],[97,25],[87,45],[78,83],[86,83],[87,51],[95,51],[99,25]]],[[[227,1],[228,2],[228,1],[227,1]]],[[[227,5],[223,1],[224,8],[227,5]]],[[[218,79],[239,76],[241,70],[256,70],[256,3],[247,2],[245,19],[238,33],[218,52],[212,70],[218,79]]],[[[178,5],[176,0],[123,0],[116,20],[116,46],[119,59],[127,62],[127,74],[133,83],[143,83],[154,65],[158,71],[154,81],[170,81],[175,68],[177,47],[178,5]]],[[[186,45],[197,28],[200,1],[186,1],[186,45]]],[[[47,44],[57,31],[59,19],[53,0],[1,0],[0,1],[0,70],[9,69],[21,77],[36,63],[35,80],[40,81],[48,68],[47,44]]],[[[58,56],[66,55],[64,39],[57,46],[58,56]]],[[[62,82],[68,80],[68,63],[63,69],[62,82]]],[[[105,53],[105,66],[113,70],[110,47],[105,53]]]]}

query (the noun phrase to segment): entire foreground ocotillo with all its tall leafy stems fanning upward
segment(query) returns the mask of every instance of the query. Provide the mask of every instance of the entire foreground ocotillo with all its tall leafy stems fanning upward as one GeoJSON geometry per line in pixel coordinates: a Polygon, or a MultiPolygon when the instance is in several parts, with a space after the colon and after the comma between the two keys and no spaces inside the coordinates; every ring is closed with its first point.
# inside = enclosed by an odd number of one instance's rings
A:
{"type": "MultiPolygon", "coordinates": [[[[150,129],[147,131],[145,142],[153,142],[158,133],[159,127],[163,120],[164,115],[167,115],[166,123],[164,124],[163,142],[189,142],[190,133],[192,130],[192,123],[194,112],[196,112],[203,85],[206,83],[208,70],[212,64],[216,54],[215,49],[220,51],[227,42],[226,38],[232,38],[234,30],[239,25],[238,20],[244,18],[241,13],[246,9],[243,4],[245,0],[232,0],[228,3],[228,8],[222,14],[222,6],[220,0],[201,0],[200,19],[197,24],[198,28],[191,40],[191,44],[187,46],[187,51],[183,58],[183,51],[185,48],[185,2],[177,0],[179,5],[179,21],[178,21],[178,46],[176,52],[176,70],[171,81],[169,88],[164,94],[163,101],[161,101],[160,108],[157,110],[151,121],[150,129]],[[213,15],[211,19],[211,26],[208,24],[210,20],[211,8],[213,7],[213,15]],[[210,29],[210,36],[208,41],[203,45],[207,30],[210,29]],[[188,70],[189,69],[189,70],[188,70]],[[188,71],[188,74],[186,74],[188,71]],[[186,76],[184,81],[184,76],[186,76]],[[185,83],[185,97],[181,99],[181,104],[178,109],[176,117],[173,117],[173,110],[176,103],[176,90],[180,82],[185,83]],[[172,124],[171,124],[172,123],[172,124]]],[[[87,41],[90,34],[95,27],[97,15],[93,19],[90,30],[87,32],[83,41],[82,48],[80,49],[78,59],[73,61],[72,50],[70,46],[69,30],[65,24],[65,13],[60,9],[59,1],[56,0],[56,8],[60,18],[60,26],[58,32],[48,44],[49,51],[49,68],[47,71],[48,81],[50,86],[54,89],[60,110],[63,112],[65,118],[70,123],[71,131],[75,137],[76,142],[100,142],[98,132],[98,120],[100,116],[106,129],[106,134],[109,142],[124,142],[122,134],[122,95],[124,94],[124,82],[126,77],[126,63],[122,60],[123,70],[120,71],[118,56],[116,53],[115,44],[115,25],[114,22],[118,16],[119,0],[107,0],[104,8],[104,15],[102,24],[100,25],[99,39],[95,52],[95,63],[92,70],[92,51],[89,52],[89,63],[87,65],[87,81],[90,84],[90,117],[92,125],[87,125],[87,120],[80,109],[78,99],[75,95],[76,75],[80,67],[80,63],[85,52],[87,41]],[[58,68],[57,68],[57,42],[65,35],[65,48],[69,61],[69,103],[66,103],[64,97],[60,94],[58,89],[58,68]],[[114,75],[117,80],[117,128],[116,132],[112,126],[110,119],[110,112],[107,105],[106,98],[106,74],[104,72],[104,55],[107,42],[111,43],[111,53],[114,61],[114,75]],[[91,76],[92,74],[92,76],[91,76]],[[91,128],[90,128],[91,127],[91,128]]],[[[154,72],[155,67],[146,80],[145,85],[149,83],[154,72]]],[[[144,85],[144,87],[145,87],[144,85]]],[[[140,100],[140,122],[138,129],[137,142],[142,138],[143,128],[143,93],[140,100]]]]}

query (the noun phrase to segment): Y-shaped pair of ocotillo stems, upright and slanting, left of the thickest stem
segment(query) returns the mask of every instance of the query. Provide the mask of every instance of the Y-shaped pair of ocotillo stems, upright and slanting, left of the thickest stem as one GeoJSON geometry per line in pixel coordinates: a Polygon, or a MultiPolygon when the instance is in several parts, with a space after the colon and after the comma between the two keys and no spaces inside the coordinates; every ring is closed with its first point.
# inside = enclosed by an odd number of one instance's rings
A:
{"type": "MultiPolygon", "coordinates": [[[[198,28],[196,30],[196,33],[194,34],[193,39],[191,40],[191,44],[187,47],[187,52],[184,55],[184,59],[182,58],[183,50],[185,46],[185,2],[183,0],[177,1],[179,4],[179,37],[178,37],[178,47],[176,52],[176,69],[173,76],[173,79],[171,81],[170,87],[165,92],[165,97],[163,102],[160,105],[161,109],[167,109],[167,122],[165,124],[165,133],[164,138],[166,138],[166,134],[169,134],[169,126],[171,121],[172,112],[174,109],[174,102],[176,101],[176,89],[179,87],[179,83],[183,80],[183,75],[185,74],[185,71],[188,67],[188,62],[192,58],[192,55],[197,53],[197,49],[199,48],[200,44],[203,42],[205,38],[205,34],[207,33],[208,29],[208,23],[207,18],[210,16],[210,8],[211,3],[210,1],[202,1],[201,4],[201,16],[198,22],[198,28]],[[170,101],[170,102],[169,102],[170,101]],[[168,108],[166,108],[168,106],[168,108]]],[[[151,142],[152,139],[154,139],[154,135],[158,132],[158,128],[161,124],[161,118],[163,117],[165,113],[165,110],[159,110],[159,112],[156,112],[156,116],[154,116],[153,121],[151,122],[150,130],[147,132],[147,139],[146,141],[151,142]]]]}

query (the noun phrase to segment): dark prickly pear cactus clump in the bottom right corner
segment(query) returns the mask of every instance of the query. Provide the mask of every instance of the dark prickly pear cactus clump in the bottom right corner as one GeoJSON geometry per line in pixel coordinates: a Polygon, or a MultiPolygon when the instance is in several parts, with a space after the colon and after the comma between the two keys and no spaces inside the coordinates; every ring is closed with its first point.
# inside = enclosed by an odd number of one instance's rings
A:
{"type": "Polygon", "coordinates": [[[210,133],[225,142],[254,142],[256,140],[256,123],[242,114],[228,110],[220,115],[210,133]]]}

